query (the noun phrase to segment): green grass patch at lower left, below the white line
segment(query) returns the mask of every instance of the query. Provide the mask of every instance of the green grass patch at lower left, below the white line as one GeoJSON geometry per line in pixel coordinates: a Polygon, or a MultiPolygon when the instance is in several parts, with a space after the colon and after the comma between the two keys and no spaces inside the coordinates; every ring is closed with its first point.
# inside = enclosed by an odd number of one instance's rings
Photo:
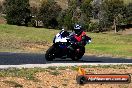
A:
{"type": "Polygon", "coordinates": [[[45,71],[45,69],[42,68],[8,68],[0,70],[0,77],[24,77],[27,80],[33,80],[34,82],[38,82],[39,80],[35,77],[35,73],[43,71],[45,71]]]}

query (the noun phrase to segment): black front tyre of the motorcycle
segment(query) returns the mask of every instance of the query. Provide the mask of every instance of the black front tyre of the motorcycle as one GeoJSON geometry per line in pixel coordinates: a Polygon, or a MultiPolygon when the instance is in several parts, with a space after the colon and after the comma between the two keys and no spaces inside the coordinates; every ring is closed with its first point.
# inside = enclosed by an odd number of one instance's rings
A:
{"type": "Polygon", "coordinates": [[[53,61],[55,59],[55,46],[52,45],[45,54],[45,58],[47,61],[53,61]]]}

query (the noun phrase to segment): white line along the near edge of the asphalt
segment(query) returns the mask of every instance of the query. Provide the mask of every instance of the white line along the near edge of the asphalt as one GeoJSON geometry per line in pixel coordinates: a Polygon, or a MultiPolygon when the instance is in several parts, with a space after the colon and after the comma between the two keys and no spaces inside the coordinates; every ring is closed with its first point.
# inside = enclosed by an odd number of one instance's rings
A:
{"type": "Polygon", "coordinates": [[[81,65],[128,65],[132,63],[51,63],[51,64],[23,64],[23,65],[0,65],[1,69],[6,68],[47,68],[49,66],[81,66],[81,65]]]}

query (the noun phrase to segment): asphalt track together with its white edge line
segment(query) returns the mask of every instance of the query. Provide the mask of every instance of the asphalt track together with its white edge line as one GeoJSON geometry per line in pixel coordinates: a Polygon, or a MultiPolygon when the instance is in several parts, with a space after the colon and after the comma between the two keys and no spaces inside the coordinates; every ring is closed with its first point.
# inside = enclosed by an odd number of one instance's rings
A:
{"type": "Polygon", "coordinates": [[[112,58],[112,57],[97,57],[83,56],[79,61],[71,59],[55,59],[54,61],[46,61],[45,54],[41,53],[0,53],[0,68],[34,68],[48,66],[75,66],[75,65],[117,65],[117,64],[132,64],[132,59],[112,58]]]}

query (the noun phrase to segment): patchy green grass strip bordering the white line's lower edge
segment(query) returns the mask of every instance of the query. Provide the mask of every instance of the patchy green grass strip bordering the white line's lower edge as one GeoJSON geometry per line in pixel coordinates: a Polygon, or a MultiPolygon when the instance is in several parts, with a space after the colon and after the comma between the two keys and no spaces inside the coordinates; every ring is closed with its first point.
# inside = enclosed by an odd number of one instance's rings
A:
{"type": "Polygon", "coordinates": [[[8,68],[0,70],[0,77],[24,77],[27,80],[39,81],[35,78],[35,74],[38,72],[48,72],[51,75],[57,76],[61,73],[61,70],[78,71],[79,67],[87,68],[112,68],[112,69],[127,69],[132,65],[82,65],[82,66],[60,66],[60,67],[48,67],[48,68],[8,68]]]}

